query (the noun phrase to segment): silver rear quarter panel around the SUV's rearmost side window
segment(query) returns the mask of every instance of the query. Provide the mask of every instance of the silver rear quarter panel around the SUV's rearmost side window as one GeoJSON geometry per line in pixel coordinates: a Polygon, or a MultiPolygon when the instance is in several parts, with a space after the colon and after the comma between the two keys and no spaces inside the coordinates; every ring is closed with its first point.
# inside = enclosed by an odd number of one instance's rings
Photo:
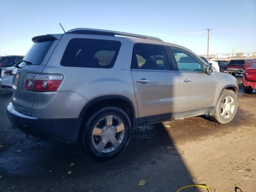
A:
{"type": "MultiPolygon", "coordinates": [[[[87,102],[99,96],[120,95],[128,98],[135,108],[138,118],[137,103],[134,94],[130,64],[134,42],[126,38],[100,36],[100,39],[120,40],[121,48],[112,68],[85,68],[61,66],[60,61],[66,46],[72,38],[97,38],[95,35],[64,34],[54,53],[48,61],[43,73],[62,74],[64,76],[58,91],[73,91],[86,98],[87,102]]],[[[66,101],[71,102],[70,98],[66,101]]],[[[85,102],[83,106],[86,105],[85,102]]],[[[82,107],[83,107],[82,106],[82,107]]],[[[77,108],[81,110],[81,106],[77,108]]]]}

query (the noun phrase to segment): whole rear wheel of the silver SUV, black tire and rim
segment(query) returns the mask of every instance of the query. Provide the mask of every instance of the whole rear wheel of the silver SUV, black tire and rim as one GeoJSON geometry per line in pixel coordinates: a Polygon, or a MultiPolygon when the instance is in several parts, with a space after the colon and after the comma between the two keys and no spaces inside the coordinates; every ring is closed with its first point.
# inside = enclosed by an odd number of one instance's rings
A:
{"type": "Polygon", "coordinates": [[[86,122],[82,132],[82,147],[95,160],[109,160],[126,148],[131,129],[130,119],[122,109],[102,108],[86,122]]]}

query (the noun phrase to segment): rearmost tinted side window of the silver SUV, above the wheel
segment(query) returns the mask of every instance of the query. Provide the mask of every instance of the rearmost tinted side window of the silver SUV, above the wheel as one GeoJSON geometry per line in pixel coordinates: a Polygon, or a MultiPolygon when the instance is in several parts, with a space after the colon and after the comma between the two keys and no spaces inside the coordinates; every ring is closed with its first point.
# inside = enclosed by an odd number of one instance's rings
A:
{"type": "Polygon", "coordinates": [[[68,42],[60,64],[72,67],[112,68],[121,42],[74,38],[68,42]]]}

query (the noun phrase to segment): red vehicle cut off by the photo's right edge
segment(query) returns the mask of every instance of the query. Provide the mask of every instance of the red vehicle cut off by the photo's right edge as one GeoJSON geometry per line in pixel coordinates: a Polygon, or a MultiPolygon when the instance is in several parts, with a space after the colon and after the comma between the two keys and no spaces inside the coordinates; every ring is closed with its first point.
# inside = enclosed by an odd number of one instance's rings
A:
{"type": "Polygon", "coordinates": [[[252,93],[256,89],[256,64],[244,71],[241,85],[245,93],[252,93]]]}

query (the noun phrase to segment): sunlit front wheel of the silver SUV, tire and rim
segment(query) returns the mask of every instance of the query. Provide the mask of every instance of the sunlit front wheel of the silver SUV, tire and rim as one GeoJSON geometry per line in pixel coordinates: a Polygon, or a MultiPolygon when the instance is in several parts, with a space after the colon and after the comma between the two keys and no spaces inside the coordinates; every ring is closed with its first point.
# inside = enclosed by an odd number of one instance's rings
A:
{"type": "Polygon", "coordinates": [[[218,100],[214,115],[210,115],[210,118],[217,123],[230,122],[237,110],[238,99],[234,91],[224,90],[218,100]]]}

